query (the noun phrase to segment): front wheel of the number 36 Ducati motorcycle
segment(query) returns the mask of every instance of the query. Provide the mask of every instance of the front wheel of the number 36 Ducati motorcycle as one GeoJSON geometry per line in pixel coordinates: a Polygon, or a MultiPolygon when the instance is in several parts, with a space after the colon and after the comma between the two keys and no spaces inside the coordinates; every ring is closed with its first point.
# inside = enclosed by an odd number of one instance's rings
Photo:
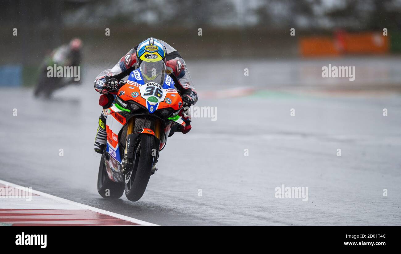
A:
{"type": "Polygon", "coordinates": [[[141,134],[135,144],[134,165],[125,175],[125,193],[130,201],[140,200],[148,186],[154,163],[153,148],[154,136],[141,134]]]}

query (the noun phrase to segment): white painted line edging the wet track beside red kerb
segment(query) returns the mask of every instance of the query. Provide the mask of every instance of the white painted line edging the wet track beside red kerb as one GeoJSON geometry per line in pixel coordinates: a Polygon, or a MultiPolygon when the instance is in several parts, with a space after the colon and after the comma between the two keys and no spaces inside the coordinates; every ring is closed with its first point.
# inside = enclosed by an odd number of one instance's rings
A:
{"type": "MultiPolygon", "coordinates": [[[[12,187],[17,188],[17,189],[25,188],[25,187],[20,186],[18,184],[13,184],[11,182],[6,182],[4,180],[0,180],[0,183],[2,183],[4,185],[12,186],[12,187]]],[[[136,223],[136,224],[139,224],[139,225],[143,225],[143,226],[159,226],[157,224],[153,224],[153,223],[150,223],[150,222],[147,222],[147,221],[141,221],[139,219],[134,219],[134,218],[131,218],[131,217],[128,217],[128,216],[125,216],[125,215],[118,214],[118,213],[105,211],[105,210],[102,210],[102,209],[98,209],[96,207],[91,207],[89,205],[84,205],[84,204],[77,203],[77,202],[74,202],[74,201],[71,201],[71,200],[68,200],[68,199],[63,199],[61,197],[56,197],[56,196],[53,196],[53,195],[50,195],[50,194],[47,194],[47,193],[43,193],[43,192],[38,191],[38,190],[32,190],[32,193],[36,194],[36,195],[39,195],[39,196],[42,196],[42,197],[47,197],[49,199],[53,199],[55,201],[59,201],[61,203],[65,203],[65,204],[69,204],[69,205],[76,205],[76,206],[81,207],[83,209],[91,210],[91,211],[94,211],[96,213],[102,213],[102,214],[109,215],[111,217],[115,217],[115,218],[122,219],[122,220],[125,220],[125,221],[130,221],[132,223],[136,223]]]]}

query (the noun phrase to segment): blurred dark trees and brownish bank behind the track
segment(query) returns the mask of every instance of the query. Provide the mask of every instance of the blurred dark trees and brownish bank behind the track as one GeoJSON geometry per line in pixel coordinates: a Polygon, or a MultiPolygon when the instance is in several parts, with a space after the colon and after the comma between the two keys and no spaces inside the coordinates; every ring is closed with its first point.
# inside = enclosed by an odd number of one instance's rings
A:
{"type": "Polygon", "coordinates": [[[86,59],[116,61],[150,36],[192,58],[294,57],[290,28],[297,38],[401,30],[401,0],[2,0],[0,8],[0,64],[37,63],[73,37],[85,42],[86,59]]]}

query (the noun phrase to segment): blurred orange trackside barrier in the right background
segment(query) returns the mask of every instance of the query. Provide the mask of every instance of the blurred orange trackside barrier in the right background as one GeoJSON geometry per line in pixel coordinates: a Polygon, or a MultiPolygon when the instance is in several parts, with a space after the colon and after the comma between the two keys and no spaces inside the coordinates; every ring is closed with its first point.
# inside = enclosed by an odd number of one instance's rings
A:
{"type": "Polygon", "coordinates": [[[332,37],[306,37],[299,41],[302,56],[335,56],[340,54],[383,54],[390,42],[382,33],[334,33],[332,37]]]}

